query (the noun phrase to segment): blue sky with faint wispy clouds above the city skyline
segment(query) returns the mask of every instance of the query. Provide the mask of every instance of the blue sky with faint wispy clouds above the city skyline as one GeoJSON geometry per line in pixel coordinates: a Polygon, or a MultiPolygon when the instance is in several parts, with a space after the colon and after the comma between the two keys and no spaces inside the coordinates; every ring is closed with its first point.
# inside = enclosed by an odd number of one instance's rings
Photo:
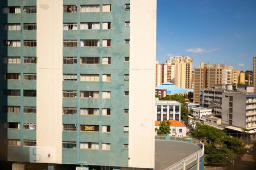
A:
{"type": "Polygon", "coordinates": [[[156,60],[176,55],[252,70],[256,0],[158,0],[156,60]]]}

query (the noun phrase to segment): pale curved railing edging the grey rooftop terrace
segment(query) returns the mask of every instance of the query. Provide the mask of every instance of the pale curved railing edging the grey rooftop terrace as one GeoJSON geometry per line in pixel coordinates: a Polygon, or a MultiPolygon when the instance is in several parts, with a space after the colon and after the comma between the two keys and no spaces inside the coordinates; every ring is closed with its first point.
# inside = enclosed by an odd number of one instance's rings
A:
{"type": "Polygon", "coordinates": [[[200,147],[200,150],[187,156],[187,158],[184,158],[182,160],[180,160],[179,162],[171,165],[170,167],[164,169],[164,170],[177,170],[177,169],[184,169],[186,165],[189,165],[190,163],[194,162],[195,160],[197,160],[197,158],[199,157],[199,159],[204,155],[204,144],[202,142],[200,142],[197,139],[193,139],[193,138],[189,138],[189,137],[170,137],[170,136],[155,136],[156,140],[165,140],[165,141],[181,141],[181,142],[188,142],[191,143],[193,145],[197,145],[200,147]],[[184,166],[184,168],[183,168],[184,166]]]}

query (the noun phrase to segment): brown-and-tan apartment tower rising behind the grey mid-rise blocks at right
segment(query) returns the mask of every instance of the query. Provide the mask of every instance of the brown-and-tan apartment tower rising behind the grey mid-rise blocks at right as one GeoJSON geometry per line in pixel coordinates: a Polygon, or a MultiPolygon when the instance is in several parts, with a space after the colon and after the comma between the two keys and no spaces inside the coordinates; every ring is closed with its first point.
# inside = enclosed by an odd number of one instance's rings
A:
{"type": "Polygon", "coordinates": [[[226,65],[201,62],[194,68],[194,103],[200,103],[200,89],[213,88],[216,84],[222,84],[222,70],[226,65]]]}

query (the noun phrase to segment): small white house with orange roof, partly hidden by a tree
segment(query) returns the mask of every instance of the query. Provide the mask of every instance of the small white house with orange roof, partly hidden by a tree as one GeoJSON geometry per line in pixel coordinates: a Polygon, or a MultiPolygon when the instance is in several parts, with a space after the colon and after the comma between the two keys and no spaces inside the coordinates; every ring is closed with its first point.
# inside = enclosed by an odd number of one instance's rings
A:
{"type": "MultiPolygon", "coordinates": [[[[183,122],[176,120],[169,120],[170,122],[170,136],[172,137],[185,137],[187,136],[187,127],[183,124],[183,122]]],[[[155,121],[155,128],[159,129],[161,122],[155,121]]],[[[155,131],[156,135],[157,131],[155,131]]]]}

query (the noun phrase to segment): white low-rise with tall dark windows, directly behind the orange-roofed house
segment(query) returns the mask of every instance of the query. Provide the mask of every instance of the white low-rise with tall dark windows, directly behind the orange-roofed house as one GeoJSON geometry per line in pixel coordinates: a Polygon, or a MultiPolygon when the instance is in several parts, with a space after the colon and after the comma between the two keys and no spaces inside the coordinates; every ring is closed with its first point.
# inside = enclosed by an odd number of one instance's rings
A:
{"type": "Polygon", "coordinates": [[[181,104],[179,101],[170,101],[170,100],[158,100],[156,98],[155,107],[155,121],[163,120],[176,120],[180,121],[180,109],[181,104]]]}

